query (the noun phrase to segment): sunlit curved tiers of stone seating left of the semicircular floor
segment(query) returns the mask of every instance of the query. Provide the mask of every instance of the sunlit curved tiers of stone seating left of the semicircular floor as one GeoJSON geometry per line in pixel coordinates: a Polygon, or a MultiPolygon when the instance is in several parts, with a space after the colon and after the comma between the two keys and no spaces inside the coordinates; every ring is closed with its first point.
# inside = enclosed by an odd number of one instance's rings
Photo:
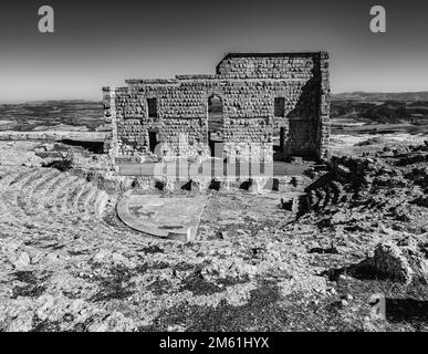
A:
{"type": "Polygon", "coordinates": [[[0,222],[9,233],[117,232],[102,219],[108,194],[85,178],[53,168],[0,170],[0,222]]]}

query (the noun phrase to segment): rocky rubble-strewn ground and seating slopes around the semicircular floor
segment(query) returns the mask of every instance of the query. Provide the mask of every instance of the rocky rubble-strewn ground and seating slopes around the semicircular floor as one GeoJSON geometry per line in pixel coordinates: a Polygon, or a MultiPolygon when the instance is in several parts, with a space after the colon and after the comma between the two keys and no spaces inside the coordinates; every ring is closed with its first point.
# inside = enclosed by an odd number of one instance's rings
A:
{"type": "Polygon", "coordinates": [[[297,214],[279,192],[209,191],[184,243],[45,163],[69,148],[0,142],[0,330],[427,331],[428,146],[370,144],[312,170],[297,214]]]}

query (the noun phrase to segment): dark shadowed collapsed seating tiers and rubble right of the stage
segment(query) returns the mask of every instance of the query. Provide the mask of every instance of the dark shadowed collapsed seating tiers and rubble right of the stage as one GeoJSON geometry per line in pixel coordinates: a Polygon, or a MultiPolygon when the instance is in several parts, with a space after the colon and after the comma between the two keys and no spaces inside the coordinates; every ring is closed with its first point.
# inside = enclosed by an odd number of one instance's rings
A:
{"type": "Polygon", "coordinates": [[[400,214],[400,202],[425,206],[428,188],[428,143],[410,147],[408,153],[396,149],[388,157],[333,156],[327,170],[305,188],[312,210],[322,210],[335,205],[348,207],[366,206],[385,208],[395,204],[400,214]],[[403,194],[410,189],[410,199],[403,194]],[[386,195],[394,198],[385,199],[386,195]],[[416,196],[416,197],[415,197],[416,196]],[[403,200],[401,200],[403,199],[403,200]]]}

